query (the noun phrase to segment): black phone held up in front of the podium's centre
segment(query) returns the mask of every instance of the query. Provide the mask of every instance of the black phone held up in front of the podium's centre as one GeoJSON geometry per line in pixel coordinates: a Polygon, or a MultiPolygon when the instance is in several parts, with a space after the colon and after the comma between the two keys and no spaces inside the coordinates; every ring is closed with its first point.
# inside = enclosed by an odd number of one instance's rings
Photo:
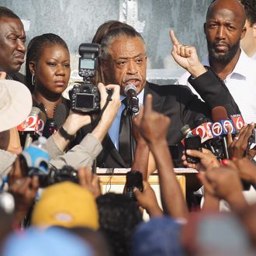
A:
{"type": "Polygon", "coordinates": [[[142,181],[142,173],[140,171],[128,171],[126,173],[126,196],[128,198],[136,200],[136,196],[133,194],[133,189],[137,188],[142,192],[142,181]]]}

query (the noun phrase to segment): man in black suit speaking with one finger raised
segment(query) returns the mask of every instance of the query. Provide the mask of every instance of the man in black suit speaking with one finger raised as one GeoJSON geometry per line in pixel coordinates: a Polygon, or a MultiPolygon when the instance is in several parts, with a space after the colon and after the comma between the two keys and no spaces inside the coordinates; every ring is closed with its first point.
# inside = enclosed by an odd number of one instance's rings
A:
{"type": "MultiPolygon", "coordinates": [[[[239,112],[239,109],[223,82],[213,71],[206,69],[199,62],[195,47],[179,43],[173,31],[171,31],[171,40],[174,44],[172,56],[181,67],[192,74],[190,81],[205,102],[200,101],[185,86],[159,86],[147,82],[147,54],[144,39],[135,29],[127,26],[112,29],[103,36],[100,69],[106,85],[120,85],[121,99],[125,98],[124,88],[129,84],[136,86],[141,103],[144,102],[147,94],[153,95],[154,110],[171,118],[168,144],[178,144],[182,149],[180,142],[182,126],[189,124],[192,129],[195,128],[195,121],[202,117],[209,118],[211,109],[215,106],[230,104],[234,112],[239,112]]],[[[119,123],[124,108],[121,106],[109,134],[102,143],[103,150],[97,158],[97,166],[101,168],[130,167],[130,161],[124,161],[124,157],[121,157],[122,152],[119,152],[119,123]]],[[[83,133],[87,132],[88,130],[83,130],[83,133]]],[[[125,153],[129,154],[129,150],[125,153]]]]}

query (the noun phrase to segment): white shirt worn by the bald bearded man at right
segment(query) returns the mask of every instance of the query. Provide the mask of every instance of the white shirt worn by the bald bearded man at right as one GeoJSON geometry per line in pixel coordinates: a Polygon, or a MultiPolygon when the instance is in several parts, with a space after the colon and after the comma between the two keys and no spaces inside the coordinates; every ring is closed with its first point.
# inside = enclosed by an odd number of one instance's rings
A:
{"type": "MultiPolygon", "coordinates": [[[[209,66],[209,57],[202,63],[209,66]]],[[[175,84],[188,85],[189,88],[192,89],[192,92],[198,95],[195,89],[192,88],[192,85],[189,84],[189,76],[189,72],[182,74],[175,84]]],[[[235,102],[237,102],[237,106],[244,117],[244,122],[256,123],[256,61],[248,57],[247,54],[241,50],[234,70],[227,75],[224,83],[227,85],[235,102]]]]}

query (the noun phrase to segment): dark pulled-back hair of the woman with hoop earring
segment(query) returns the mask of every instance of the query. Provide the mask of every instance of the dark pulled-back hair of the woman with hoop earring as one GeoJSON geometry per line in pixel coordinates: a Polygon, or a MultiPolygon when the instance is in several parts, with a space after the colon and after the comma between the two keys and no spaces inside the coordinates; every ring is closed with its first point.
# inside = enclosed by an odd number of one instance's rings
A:
{"type": "Polygon", "coordinates": [[[54,33],[46,33],[30,40],[26,51],[26,85],[30,92],[33,92],[34,86],[31,81],[32,74],[29,70],[29,62],[35,61],[35,63],[37,63],[42,55],[43,48],[46,46],[54,46],[56,44],[59,44],[68,50],[67,43],[65,43],[61,36],[57,36],[54,33]]]}

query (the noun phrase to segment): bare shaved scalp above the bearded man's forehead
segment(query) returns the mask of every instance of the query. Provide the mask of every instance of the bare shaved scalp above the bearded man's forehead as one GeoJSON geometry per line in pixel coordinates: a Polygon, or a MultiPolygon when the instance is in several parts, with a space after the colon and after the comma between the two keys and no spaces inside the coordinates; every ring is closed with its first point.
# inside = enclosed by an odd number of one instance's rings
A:
{"type": "Polygon", "coordinates": [[[213,0],[207,10],[206,21],[211,19],[216,12],[233,12],[237,22],[240,23],[241,28],[244,27],[246,21],[246,14],[243,5],[238,0],[213,0]]]}

